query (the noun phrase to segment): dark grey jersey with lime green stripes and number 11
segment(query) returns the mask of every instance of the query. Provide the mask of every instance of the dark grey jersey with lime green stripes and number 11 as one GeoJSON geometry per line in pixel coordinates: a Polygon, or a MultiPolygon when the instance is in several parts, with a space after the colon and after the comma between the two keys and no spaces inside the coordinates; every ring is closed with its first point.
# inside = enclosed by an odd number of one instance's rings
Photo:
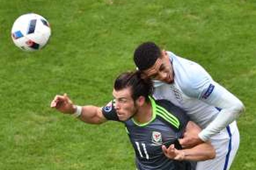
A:
{"type": "MultiPolygon", "coordinates": [[[[120,121],[114,109],[115,101],[102,108],[108,120],[120,121]]],[[[139,124],[133,118],[124,121],[126,130],[136,153],[136,166],[139,170],[191,170],[194,163],[176,161],[167,158],[161,149],[162,145],[181,149],[177,139],[182,137],[188,122],[184,111],[167,100],[151,99],[153,107],[152,119],[139,124]]]]}

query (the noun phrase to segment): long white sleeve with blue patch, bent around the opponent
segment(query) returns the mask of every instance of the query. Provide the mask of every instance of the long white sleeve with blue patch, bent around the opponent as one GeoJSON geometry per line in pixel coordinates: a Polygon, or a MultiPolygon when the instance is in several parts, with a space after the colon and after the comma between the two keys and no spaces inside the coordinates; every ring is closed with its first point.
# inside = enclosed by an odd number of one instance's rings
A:
{"type": "Polygon", "coordinates": [[[199,65],[192,67],[185,84],[183,91],[187,96],[221,109],[217,117],[199,133],[203,141],[224,129],[244,111],[243,103],[216,83],[199,65]]]}

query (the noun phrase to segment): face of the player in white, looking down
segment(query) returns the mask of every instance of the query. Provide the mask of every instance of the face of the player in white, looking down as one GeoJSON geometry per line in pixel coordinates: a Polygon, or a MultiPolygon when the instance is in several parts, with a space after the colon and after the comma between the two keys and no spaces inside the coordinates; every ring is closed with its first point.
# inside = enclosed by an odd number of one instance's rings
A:
{"type": "Polygon", "coordinates": [[[172,83],[174,79],[173,69],[166,51],[162,51],[162,55],[157,59],[155,64],[143,71],[145,77],[152,80],[159,80],[165,83],[172,83]]]}

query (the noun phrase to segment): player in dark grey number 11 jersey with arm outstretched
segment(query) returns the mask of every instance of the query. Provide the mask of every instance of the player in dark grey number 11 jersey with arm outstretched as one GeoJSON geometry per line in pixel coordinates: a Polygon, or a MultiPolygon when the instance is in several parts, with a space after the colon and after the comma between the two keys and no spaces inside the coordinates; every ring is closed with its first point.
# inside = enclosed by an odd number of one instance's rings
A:
{"type": "Polygon", "coordinates": [[[67,95],[55,96],[51,107],[86,123],[124,123],[139,170],[191,170],[195,168],[192,161],[214,158],[210,142],[182,149],[178,139],[198,135],[201,129],[179,107],[150,97],[152,89],[152,82],[141,79],[139,72],[123,73],[115,80],[114,100],[104,107],[77,106],[67,95]]]}

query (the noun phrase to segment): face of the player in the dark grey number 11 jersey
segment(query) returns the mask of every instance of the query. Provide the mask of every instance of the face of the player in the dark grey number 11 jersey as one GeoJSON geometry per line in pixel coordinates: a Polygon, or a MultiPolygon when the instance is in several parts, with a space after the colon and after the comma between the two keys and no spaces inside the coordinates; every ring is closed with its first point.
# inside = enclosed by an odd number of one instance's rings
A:
{"type": "Polygon", "coordinates": [[[131,97],[130,88],[118,91],[114,89],[113,96],[115,98],[115,109],[119,120],[126,121],[138,111],[131,97]]]}

